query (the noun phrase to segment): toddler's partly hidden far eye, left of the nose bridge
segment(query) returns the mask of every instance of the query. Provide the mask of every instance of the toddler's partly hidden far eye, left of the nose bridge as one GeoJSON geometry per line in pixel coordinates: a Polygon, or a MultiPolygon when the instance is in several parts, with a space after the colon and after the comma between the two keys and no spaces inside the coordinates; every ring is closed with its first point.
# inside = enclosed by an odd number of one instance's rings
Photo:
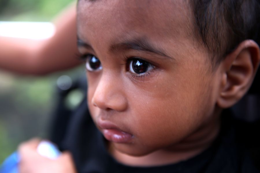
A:
{"type": "Polygon", "coordinates": [[[88,71],[95,72],[102,69],[101,62],[94,55],[87,54],[84,56],[84,59],[86,59],[86,68],[88,71]]]}

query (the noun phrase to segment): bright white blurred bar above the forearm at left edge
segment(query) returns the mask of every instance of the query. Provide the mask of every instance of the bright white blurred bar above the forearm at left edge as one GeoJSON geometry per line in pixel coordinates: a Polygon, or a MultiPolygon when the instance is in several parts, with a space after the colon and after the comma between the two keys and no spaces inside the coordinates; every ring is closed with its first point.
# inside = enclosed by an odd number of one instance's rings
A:
{"type": "Polygon", "coordinates": [[[0,21],[0,36],[42,40],[52,37],[55,26],[51,22],[0,21]]]}

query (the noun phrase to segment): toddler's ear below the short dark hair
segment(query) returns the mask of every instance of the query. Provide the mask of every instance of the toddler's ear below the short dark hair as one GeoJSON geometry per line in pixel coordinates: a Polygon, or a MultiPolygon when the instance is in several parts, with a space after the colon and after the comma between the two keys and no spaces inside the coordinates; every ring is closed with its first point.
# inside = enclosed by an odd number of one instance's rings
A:
{"type": "Polygon", "coordinates": [[[259,46],[245,40],[220,63],[221,87],[217,104],[228,108],[239,101],[250,88],[260,60],[259,46]]]}

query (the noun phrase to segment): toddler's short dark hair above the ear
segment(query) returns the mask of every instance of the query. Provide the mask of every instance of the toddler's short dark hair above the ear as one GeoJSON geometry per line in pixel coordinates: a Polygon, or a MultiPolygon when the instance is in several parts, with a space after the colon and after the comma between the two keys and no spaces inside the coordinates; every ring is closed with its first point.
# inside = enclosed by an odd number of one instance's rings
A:
{"type": "Polygon", "coordinates": [[[190,0],[195,35],[219,63],[243,40],[260,41],[259,0],[190,0]]]}

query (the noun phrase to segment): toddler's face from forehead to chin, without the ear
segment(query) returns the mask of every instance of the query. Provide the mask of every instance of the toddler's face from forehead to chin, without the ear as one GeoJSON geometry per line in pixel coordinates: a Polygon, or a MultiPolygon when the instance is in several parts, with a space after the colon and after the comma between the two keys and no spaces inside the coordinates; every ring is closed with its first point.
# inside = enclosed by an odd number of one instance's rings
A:
{"type": "Polygon", "coordinates": [[[118,151],[174,148],[213,121],[219,76],[188,11],[182,1],[79,1],[79,50],[94,55],[88,106],[118,151]]]}

